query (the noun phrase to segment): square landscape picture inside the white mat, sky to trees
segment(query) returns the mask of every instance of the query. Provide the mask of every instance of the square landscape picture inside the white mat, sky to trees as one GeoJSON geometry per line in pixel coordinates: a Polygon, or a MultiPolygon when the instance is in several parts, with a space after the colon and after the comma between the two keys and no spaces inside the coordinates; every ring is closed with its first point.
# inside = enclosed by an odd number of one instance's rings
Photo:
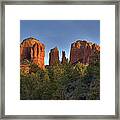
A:
{"type": "Polygon", "coordinates": [[[100,21],[20,21],[21,100],[100,100],[100,21]]]}

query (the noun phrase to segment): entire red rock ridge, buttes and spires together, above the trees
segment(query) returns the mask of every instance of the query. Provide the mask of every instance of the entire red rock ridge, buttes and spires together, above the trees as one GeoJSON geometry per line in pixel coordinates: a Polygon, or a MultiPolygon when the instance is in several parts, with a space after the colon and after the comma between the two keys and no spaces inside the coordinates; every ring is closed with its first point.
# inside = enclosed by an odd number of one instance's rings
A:
{"type": "MultiPolygon", "coordinates": [[[[71,44],[70,49],[70,63],[76,64],[77,62],[83,64],[89,64],[93,59],[95,54],[100,53],[100,46],[88,42],[86,40],[77,40],[71,44]]],[[[38,67],[44,69],[44,57],[45,57],[45,45],[42,44],[39,40],[30,37],[20,44],[20,62],[21,67],[24,67],[23,61],[27,60],[34,64],[37,64],[38,67]]],[[[98,57],[97,59],[100,59],[98,57]]],[[[62,51],[62,61],[61,64],[65,64],[67,61],[65,51],[62,51]]],[[[50,50],[49,53],[49,65],[53,65],[55,62],[59,62],[59,50],[57,47],[50,50]]]]}

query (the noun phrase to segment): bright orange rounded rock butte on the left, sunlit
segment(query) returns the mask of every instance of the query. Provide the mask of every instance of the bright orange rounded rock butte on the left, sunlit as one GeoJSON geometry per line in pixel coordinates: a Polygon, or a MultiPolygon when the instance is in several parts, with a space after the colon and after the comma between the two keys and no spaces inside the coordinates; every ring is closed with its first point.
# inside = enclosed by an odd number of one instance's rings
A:
{"type": "Polygon", "coordinates": [[[44,68],[45,46],[35,38],[27,38],[20,44],[20,61],[27,59],[44,68]]]}

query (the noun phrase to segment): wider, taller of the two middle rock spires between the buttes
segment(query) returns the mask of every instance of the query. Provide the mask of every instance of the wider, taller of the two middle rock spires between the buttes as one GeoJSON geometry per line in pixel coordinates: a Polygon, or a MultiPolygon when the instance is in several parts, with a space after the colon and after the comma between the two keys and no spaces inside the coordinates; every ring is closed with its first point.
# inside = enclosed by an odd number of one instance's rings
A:
{"type": "Polygon", "coordinates": [[[51,49],[49,53],[49,65],[53,65],[55,62],[59,62],[59,51],[57,47],[51,49]]]}

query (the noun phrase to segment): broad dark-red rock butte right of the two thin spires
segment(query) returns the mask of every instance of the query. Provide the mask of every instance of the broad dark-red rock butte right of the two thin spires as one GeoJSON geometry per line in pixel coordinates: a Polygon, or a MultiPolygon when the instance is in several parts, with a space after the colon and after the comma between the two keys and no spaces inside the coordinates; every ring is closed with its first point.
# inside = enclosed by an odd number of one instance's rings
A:
{"type": "Polygon", "coordinates": [[[100,51],[100,46],[87,41],[78,40],[71,45],[70,62],[72,64],[80,61],[83,64],[89,64],[91,56],[100,51]]]}

